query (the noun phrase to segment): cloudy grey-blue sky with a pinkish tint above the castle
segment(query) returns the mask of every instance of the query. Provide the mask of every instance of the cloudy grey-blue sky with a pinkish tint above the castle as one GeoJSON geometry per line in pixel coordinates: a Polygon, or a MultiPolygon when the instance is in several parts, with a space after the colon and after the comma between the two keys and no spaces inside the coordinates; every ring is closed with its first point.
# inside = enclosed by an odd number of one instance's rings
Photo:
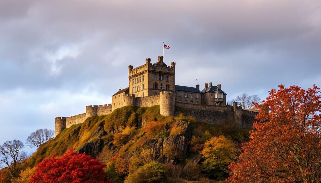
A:
{"type": "Polygon", "coordinates": [[[221,83],[227,100],[321,86],[319,0],[2,0],[0,145],[111,103],[163,42],[176,85],[221,83]]]}

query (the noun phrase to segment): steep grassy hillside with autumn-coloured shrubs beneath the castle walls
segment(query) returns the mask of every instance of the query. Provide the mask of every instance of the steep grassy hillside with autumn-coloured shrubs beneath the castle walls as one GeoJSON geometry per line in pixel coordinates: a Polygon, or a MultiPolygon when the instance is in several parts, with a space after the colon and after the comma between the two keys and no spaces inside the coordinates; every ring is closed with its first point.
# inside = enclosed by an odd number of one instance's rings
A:
{"type": "Polygon", "coordinates": [[[92,142],[98,142],[97,140],[102,144],[101,148],[98,148],[100,152],[92,151],[90,155],[98,157],[103,163],[111,162],[115,155],[129,161],[130,157],[148,151],[152,147],[153,161],[162,163],[174,161],[179,164],[199,155],[202,149],[200,144],[204,143],[204,139],[224,135],[235,142],[240,142],[247,140],[248,131],[249,129],[240,129],[238,125],[229,121],[214,125],[182,115],[163,117],[159,113],[158,105],[148,108],[125,106],[109,115],[93,116],[82,124],[64,129],[56,138],[39,147],[24,166],[32,168],[53,154],[59,157],[69,149],[78,151],[86,144],[91,146],[94,144],[92,142]],[[170,147],[170,144],[175,146],[181,143],[182,140],[179,139],[186,141],[185,146],[182,145],[185,149],[176,151],[176,155],[175,153],[173,155],[173,149],[165,149],[166,146],[170,147]],[[165,141],[167,145],[164,144],[165,141]],[[156,146],[159,144],[161,148],[157,149],[156,146]],[[178,157],[177,154],[182,152],[185,155],[178,157]]]}

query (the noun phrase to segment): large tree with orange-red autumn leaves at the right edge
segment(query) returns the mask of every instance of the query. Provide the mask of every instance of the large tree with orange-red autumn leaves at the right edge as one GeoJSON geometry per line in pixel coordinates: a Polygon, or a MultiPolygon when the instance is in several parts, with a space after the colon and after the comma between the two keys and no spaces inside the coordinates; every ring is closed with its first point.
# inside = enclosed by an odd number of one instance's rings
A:
{"type": "Polygon", "coordinates": [[[321,182],[320,88],[272,89],[260,109],[250,142],[229,165],[229,182],[321,182]],[[266,110],[269,107],[269,110],[266,110]]]}

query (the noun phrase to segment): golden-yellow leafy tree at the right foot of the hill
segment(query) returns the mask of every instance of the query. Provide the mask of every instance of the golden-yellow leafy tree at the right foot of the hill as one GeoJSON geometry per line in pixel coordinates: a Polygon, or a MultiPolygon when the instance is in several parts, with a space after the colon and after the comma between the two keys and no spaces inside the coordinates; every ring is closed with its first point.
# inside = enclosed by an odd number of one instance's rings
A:
{"type": "Polygon", "coordinates": [[[212,137],[204,143],[204,149],[201,154],[205,158],[202,163],[202,171],[218,172],[220,180],[223,170],[232,162],[232,158],[236,155],[235,145],[231,140],[224,136],[212,137]]]}

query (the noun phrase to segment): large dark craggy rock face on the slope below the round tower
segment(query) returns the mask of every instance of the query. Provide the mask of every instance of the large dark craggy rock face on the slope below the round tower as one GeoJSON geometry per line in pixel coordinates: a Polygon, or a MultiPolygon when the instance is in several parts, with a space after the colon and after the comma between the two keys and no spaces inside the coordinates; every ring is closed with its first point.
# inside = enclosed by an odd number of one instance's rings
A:
{"type": "Polygon", "coordinates": [[[153,161],[161,163],[174,163],[175,161],[166,158],[163,149],[166,147],[172,148],[173,151],[181,153],[183,157],[187,154],[188,141],[191,138],[191,124],[181,120],[173,120],[164,125],[164,130],[169,132],[169,126],[182,127],[182,134],[170,135],[166,138],[152,138],[148,139],[143,144],[143,149],[152,149],[155,154],[153,161]]]}

